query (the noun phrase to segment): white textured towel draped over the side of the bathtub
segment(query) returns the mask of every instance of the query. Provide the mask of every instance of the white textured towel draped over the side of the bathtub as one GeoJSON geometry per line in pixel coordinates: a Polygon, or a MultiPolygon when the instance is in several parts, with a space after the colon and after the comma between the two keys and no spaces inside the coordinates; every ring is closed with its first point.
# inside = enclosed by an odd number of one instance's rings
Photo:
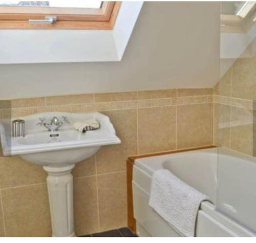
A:
{"type": "Polygon", "coordinates": [[[150,206],[184,236],[195,236],[197,213],[208,196],[181,181],[169,170],[154,172],[150,206]]]}

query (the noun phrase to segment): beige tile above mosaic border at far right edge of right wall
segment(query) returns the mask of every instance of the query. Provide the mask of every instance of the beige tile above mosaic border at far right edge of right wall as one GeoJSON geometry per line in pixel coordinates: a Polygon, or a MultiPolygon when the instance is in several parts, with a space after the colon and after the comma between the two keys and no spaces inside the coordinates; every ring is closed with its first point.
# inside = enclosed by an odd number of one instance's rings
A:
{"type": "Polygon", "coordinates": [[[256,99],[256,62],[251,58],[240,58],[233,64],[232,96],[256,99]]]}

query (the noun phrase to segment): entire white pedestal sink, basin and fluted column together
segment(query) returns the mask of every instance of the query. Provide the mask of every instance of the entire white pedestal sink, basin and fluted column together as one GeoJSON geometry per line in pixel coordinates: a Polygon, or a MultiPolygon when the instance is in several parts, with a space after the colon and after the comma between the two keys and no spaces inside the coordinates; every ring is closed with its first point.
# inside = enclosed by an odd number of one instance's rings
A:
{"type": "Polygon", "coordinates": [[[52,236],[75,236],[73,218],[73,176],[75,164],[87,159],[100,146],[119,144],[109,117],[100,113],[42,113],[23,118],[25,137],[11,137],[11,120],[0,122],[0,134],[4,156],[18,154],[26,161],[43,166],[48,172],[47,186],[52,221],[52,236]],[[66,116],[70,123],[58,131],[48,131],[36,126],[39,118],[51,120],[54,116],[66,116]],[[82,134],[73,128],[74,122],[95,119],[97,130],[82,134]]]}

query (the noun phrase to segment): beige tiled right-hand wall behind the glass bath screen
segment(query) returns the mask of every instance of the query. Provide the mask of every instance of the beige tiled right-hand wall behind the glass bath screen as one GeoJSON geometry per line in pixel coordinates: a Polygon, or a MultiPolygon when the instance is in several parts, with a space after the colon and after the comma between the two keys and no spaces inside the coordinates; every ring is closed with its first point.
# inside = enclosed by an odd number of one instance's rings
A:
{"type": "Polygon", "coordinates": [[[253,143],[253,101],[256,100],[255,47],[254,40],[214,89],[214,143],[249,156],[253,156],[253,145],[255,152],[255,142],[253,143]]]}

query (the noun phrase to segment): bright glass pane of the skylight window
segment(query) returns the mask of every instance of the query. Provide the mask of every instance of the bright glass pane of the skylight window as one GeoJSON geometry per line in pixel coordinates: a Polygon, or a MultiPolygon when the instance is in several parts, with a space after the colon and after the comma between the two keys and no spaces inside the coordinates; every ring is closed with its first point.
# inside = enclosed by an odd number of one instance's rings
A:
{"type": "Polygon", "coordinates": [[[49,1],[1,1],[0,6],[12,7],[60,7],[60,8],[100,8],[101,1],[97,0],[49,0],[49,1]]]}

